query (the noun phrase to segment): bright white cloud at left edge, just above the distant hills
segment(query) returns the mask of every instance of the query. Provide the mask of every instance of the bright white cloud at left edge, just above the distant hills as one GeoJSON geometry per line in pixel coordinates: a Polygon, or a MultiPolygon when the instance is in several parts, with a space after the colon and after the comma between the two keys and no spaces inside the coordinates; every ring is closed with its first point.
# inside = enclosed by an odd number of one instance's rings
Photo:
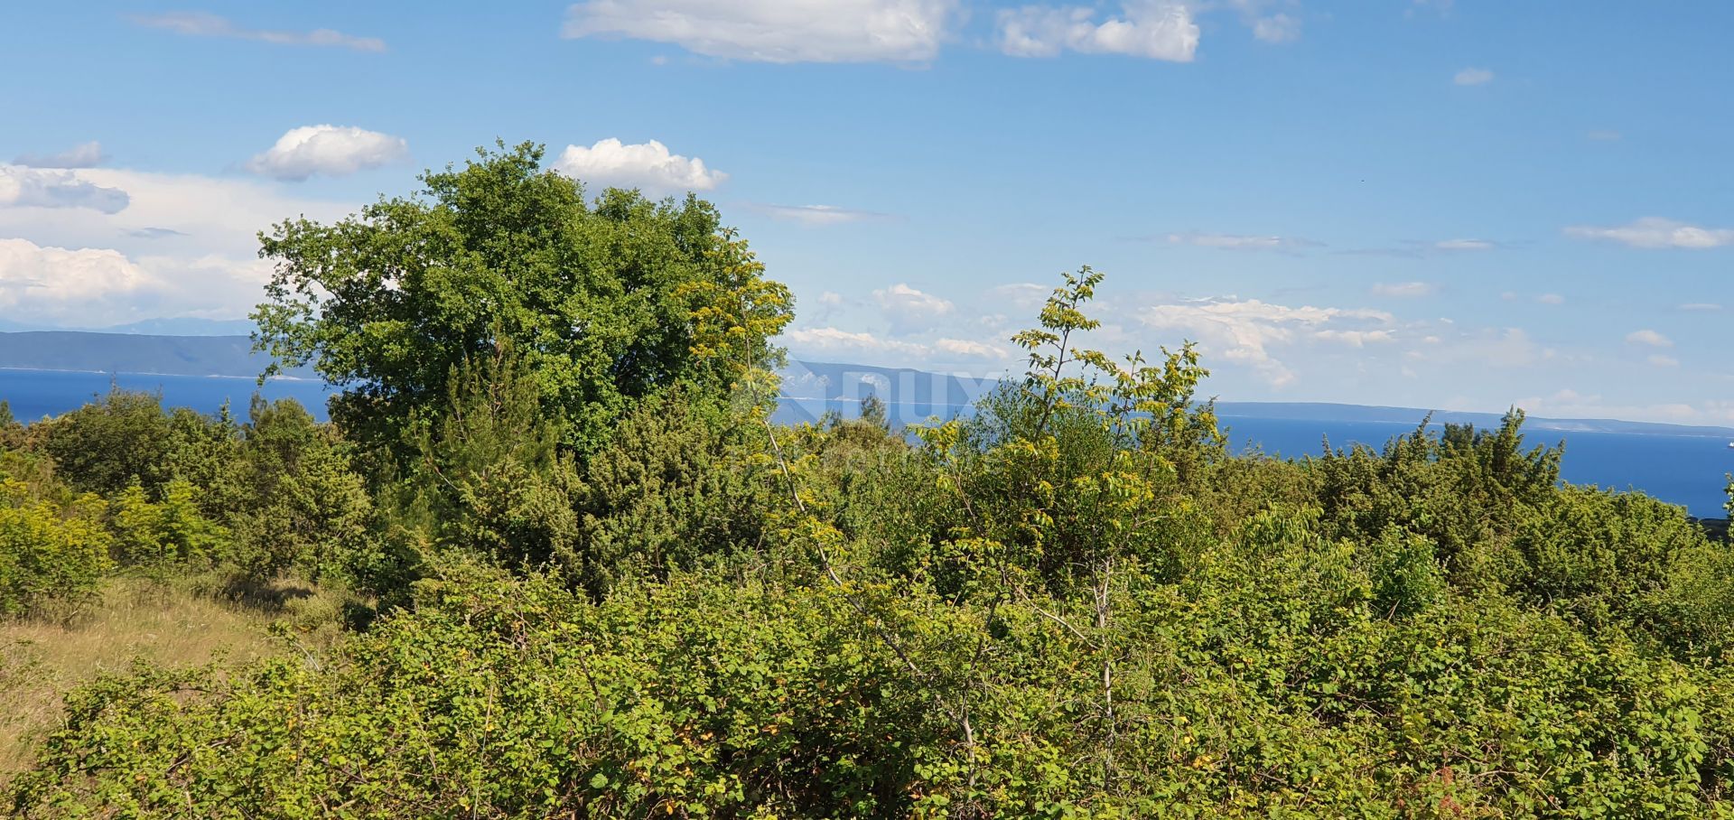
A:
{"type": "Polygon", "coordinates": [[[0,239],[0,307],[12,319],[114,324],[128,300],[160,283],[120,251],[0,239]]]}

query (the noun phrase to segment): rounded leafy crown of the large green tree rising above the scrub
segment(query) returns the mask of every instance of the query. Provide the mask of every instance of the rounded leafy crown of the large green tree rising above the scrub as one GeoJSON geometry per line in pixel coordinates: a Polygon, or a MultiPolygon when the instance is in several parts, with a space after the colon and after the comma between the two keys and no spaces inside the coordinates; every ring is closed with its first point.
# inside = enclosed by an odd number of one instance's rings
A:
{"type": "Polygon", "coordinates": [[[534,144],[479,154],[425,173],[414,196],[260,236],[276,272],[255,343],[274,369],[312,362],[340,387],[331,413],[350,435],[407,454],[451,373],[510,342],[564,444],[593,452],[638,399],[728,387],[730,366],[695,336],[720,293],[773,314],[735,340],[773,357],[787,290],[759,279],[714,206],[619,189],[590,199],[534,144]]]}

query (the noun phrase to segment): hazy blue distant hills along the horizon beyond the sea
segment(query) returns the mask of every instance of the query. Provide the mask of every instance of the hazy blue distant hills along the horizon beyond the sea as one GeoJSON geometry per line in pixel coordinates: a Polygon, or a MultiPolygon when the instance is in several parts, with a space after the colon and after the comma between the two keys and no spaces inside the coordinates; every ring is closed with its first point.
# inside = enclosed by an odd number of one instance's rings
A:
{"type": "MultiPolygon", "coordinates": [[[[0,368],[156,373],[170,376],[257,376],[267,359],[251,352],[248,336],[160,336],[140,333],[31,331],[0,333],[0,368]]],[[[310,368],[288,373],[316,378],[310,368]]],[[[950,418],[968,411],[997,381],[987,378],[928,373],[910,368],[876,368],[846,362],[791,361],[784,369],[782,421],[808,421],[824,411],[853,416],[857,404],[877,395],[888,404],[891,421],[909,423],[931,416],[950,418]]],[[[1236,418],[1287,418],[1321,421],[1417,423],[1427,414],[1418,407],[1372,407],[1330,402],[1217,402],[1217,414],[1233,426],[1236,418]]],[[[1498,426],[1495,413],[1439,411],[1434,421],[1498,426]]],[[[1559,420],[1529,416],[1536,432],[1607,432],[1654,435],[1734,437],[1720,426],[1661,425],[1647,421],[1559,420]]]]}

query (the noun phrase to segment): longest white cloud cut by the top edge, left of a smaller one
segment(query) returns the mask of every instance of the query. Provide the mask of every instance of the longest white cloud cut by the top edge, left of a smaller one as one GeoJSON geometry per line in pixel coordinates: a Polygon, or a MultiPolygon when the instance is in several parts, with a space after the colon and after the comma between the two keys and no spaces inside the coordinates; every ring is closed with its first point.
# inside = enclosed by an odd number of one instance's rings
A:
{"type": "Polygon", "coordinates": [[[562,35],[675,43],[758,62],[922,62],[957,0],[586,0],[562,35]]]}

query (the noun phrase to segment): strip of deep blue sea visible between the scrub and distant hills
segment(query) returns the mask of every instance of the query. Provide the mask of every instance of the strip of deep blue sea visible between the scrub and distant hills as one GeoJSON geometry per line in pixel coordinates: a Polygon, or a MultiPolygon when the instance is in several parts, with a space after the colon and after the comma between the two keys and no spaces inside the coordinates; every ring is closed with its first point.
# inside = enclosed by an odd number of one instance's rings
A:
{"type": "MultiPolygon", "coordinates": [[[[66,373],[0,369],[0,399],[12,407],[21,421],[38,420],[75,409],[106,394],[109,385],[127,390],[149,390],[163,397],[170,407],[192,407],[215,413],[229,402],[238,418],[246,416],[248,400],[255,392],[265,399],[297,399],[317,418],[326,416],[324,402],[329,392],[310,380],[269,380],[258,385],[251,378],[236,376],[156,376],[134,373],[66,373]]],[[[779,416],[812,418],[824,407],[801,407],[806,402],[789,402],[779,416]]],[[[922,406],[921,416],[945,414],[948,407],[922,406]]],[[[1420,423],[1420,418],[1415,420],[1420,423]]],[[[1415,430],[1413,423],[1385,421],[1320,421],[1224,416],[1229,440],[1238,451],[1259,447],[1273,456],[1300,458],[1323,452],[1328,437],[1332,447],[1353,442],[1384,446],[1387,440],[1415,430]]],[[[1606,432],[1554,432],[1531,430],[1528,444],[1566,446],[1561,473],[1573,484],[1594,484],[1609,489],[1637,489],[1663,501],[1685,506],[1691,515],[1720,518],[1725,513],[1725,475],[1734,472],[1734,449],[1725,439],[1710,435],[1656,435],[1606,432]]]]}

